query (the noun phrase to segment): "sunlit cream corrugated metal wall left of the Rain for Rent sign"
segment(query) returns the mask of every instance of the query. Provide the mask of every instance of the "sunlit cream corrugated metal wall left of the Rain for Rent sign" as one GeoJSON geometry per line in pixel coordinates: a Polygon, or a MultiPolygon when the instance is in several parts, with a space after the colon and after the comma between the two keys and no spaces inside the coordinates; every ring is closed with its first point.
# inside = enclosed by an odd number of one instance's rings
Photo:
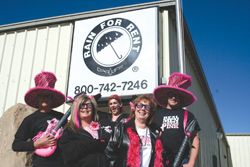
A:
{"type": "Polygon", "coordinates": [[[66,92],[72,31],[68,23],[0,34],[0,116],[24,103],[34,76],[42,70],[54,72],[55,88],[66,92]]]}

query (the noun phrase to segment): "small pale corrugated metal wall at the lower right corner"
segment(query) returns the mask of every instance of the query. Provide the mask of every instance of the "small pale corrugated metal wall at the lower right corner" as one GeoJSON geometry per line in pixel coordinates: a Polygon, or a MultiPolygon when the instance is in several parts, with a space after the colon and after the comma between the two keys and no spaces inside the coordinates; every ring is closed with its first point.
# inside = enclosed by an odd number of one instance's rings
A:
{"type": "Polygon", "coordinates": [[[227,135],[234,167],[250,166],[250,134],[227,135]]]}

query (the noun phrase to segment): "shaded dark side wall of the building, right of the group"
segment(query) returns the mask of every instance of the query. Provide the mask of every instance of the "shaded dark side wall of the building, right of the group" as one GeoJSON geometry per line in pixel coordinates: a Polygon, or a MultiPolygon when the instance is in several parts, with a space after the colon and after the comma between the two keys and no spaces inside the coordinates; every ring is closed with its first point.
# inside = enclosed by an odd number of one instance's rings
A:
{"type": "MultiPolygon", "coordinates": [[[[187,42],[187,41],[186,41],[187,42]]],[[[188,44],[189,45],[189,44],[188,44]]],[[[209,103],[209,97],[201,82],[200,72],[194,65],[193,54],[186,46],[186,73],[192,76],[191,90],[197,97],[197,101],[188,107],[199,121],[201,131],[200,153],[197,161],[198,167],[231,167],[231,156],[225,135],[220,132],[218,137],[219,118],[215,118],[216,111],[209,103]],[[229,156],[228,156],[229,155],[229,156]]]]}

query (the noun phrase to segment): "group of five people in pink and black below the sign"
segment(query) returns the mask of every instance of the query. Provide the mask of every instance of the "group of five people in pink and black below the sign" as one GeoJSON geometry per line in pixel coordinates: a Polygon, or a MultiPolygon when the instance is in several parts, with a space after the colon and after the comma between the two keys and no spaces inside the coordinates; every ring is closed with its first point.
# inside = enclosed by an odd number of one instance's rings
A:
{"type": "MultiPolygon", "coordinates": [[[[108,112],[98,110],[95,96],[79,94],[72,100],[71,117],[63,128],[63,114],[54,111],[66,97],[54,89],[56,76],[41,72],[25,102],[37,108],[18,128],[14,151],[34,151],[33,167],[172,167],[186,135],[186,125],[195,120],[185,109],[196,97],[187,88],[191,77],[172,73],[167,85],[158,86],[153,96],[140,95],[123,110],[121,97],[108,98],[108,112]],[[50,128],[48,128],[50,127],[50,128]],[[37,154],[53,150],[53,154],[37,154]],[[44,150],[43,150],[44,149],[44,150]]],[[[185,149],[181,164],[194,167],[199,150],[199,125],[185,149]]]]}

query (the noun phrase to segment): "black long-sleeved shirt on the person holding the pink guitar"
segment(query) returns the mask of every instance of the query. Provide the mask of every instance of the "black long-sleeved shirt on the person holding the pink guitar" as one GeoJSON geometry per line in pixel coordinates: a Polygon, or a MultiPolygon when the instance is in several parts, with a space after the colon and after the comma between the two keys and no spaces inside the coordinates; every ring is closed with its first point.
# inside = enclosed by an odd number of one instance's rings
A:
{"type": "MultiPolygon", "coordinates": [[[[14,151],[34,151],[32,138],[37,135],[38,132],[44,132],[48,126],[48,122],[53,118],[60,120],[63,114],[57,111],[50,111],[42,113],[39,110],[30,114],[24,118],[20,127],[18,128],[15,139],[12,144],[14,151]]],[[[33,166],[41,167],[54,167],[62,166],[61,151],[57,147],[53,155],[47,158],[33,155],[33,166]]]]}

